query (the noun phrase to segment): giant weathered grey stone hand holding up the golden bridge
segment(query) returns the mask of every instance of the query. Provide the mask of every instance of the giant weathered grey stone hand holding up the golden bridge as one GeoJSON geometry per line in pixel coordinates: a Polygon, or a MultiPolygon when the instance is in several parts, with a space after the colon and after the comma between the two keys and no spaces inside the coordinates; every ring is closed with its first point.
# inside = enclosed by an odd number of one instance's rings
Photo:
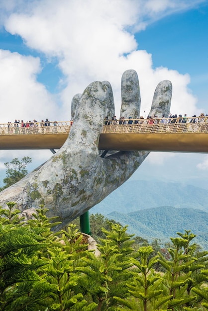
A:
{"type": "MultiPolygon", "coordinates": [[[[160,82],[150,115],[168,117],[172,84],[160,82]]],[[[121,79],[121,116],[139,117],[140,89],[134,70],[121,79]]],[[[0,205],[17,202],[21,211],[44,204],[48,217],[59,216],[62,226],[81,216],[123,184],[149,152],[116,152],[99,155],[99,137],[105,116],[114,115],[108,81],[93,82],[72,100],[74,122],[62,148],[22,180],[0,192],[0,205]],[[75,113],[74,113],[75,111],[75,113]]]]}

